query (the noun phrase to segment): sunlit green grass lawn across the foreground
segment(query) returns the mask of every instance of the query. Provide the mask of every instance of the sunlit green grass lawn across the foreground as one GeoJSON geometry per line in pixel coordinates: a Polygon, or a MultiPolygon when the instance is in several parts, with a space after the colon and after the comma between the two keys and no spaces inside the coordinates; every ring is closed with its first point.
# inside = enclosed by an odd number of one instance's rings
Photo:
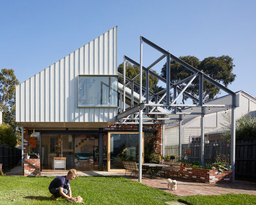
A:
{"type": "MultiPolygon", "coordinates": [[[[53,178],[0,176],[0,204],[70,204],[66,199],[50,199],[48,186],[53,178]]],[[[118,176],[78,177],[71,182],[71,188],[73,196],[80,195],[85,204],[166,204],[177,200],[192,205],[256,204],[255,196],[245,194],[178,198],[118,176]]]]}

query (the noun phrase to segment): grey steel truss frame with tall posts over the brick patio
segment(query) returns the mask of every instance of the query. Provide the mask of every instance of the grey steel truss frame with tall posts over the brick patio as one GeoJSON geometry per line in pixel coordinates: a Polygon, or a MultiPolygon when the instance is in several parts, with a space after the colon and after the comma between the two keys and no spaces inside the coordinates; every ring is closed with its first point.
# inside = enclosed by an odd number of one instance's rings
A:
{"type": "MultiPolygon", "coordinates": [[[[225,86],[218,83],[216,80],[211,77],[205,75],[202,71],[197,70],[193,66],[185,63],[185,61],[180,58],[174,56],[169,51],[164,50],[158,45],[154,44],[150,40],[146,39],[143,36],[140,36],[140,63],[137,63],[135,60],[123,56],[123,74],[118,73],[123,77],[123,92],[122,92],[122,106],[120,114],[115,116],[115,121],[118,124],[138,124],[139,125],[139,182],[142,180],[142,125],[143,124],[164,124],[164,120],[179,120],[179,154],[181,156],[181,125],[182,120],[185,115],[201,115],[201,162],[204,165],[204,115],[206,114],[205,108],[223,108],[228,109],[231,108],[231,166],[232,166],[232,175],[234,182],[234,172],[235,172],[235,139],[236,139],[236,120],[234,119],[234,112],[237,107],[237,97],[236,93],[229,90],[225,86]],[[162,55],[155,60],[150,66],[144,67],[142,64],[142,45],[143,43],[148,46],[156,49],[162,55]],[[159,76],[155,72],[151,70],[153,66],[158,64],[162,59],[166,57],[166,79],[159,76]],[[187,70],[193,72],[193,75],[180,80],[178,83],[173,84],[170,82],[170,59],[176,61],[180,65],[182,65],[187,70]],[[140,73],[135,76],[133,79],[129,79],[125,76],[126,72],[126,61],[129,61],[131,64],[140,68],[140,73]],[[146,76],[146,85],[142,86],[142,75],[145,73],[146,76]],[[158,93],[154,93],[149,89],[149,76],[152,75],[157,79],[161,80],[166,84],[166,88],[158,93]],[[199,77],[199,98],[189,94],[186,92],[187,87],[195,80],[195,78],[199,77]],[[135,80],[139,78],[140,83],[135,83],[135,80]],[[231,105],[215,105],[215,104],[204,104],[203,102],[203,80],[207,80],[209,83],[215,85],[221,90],[227,92],[232,96],[232,104],[231,105]],[[128,83],[126,84],[126,81],[128,83]],[[179,85],[186,83],[187,84],[180,88],[179,85]],[[131,84],[131,108],[125,109],[125,95],[126,95],[126,87],[131,84]],[[139,103],[134,105],[134,86],[139,88],[139,103]],[[170,97],[170,89],[173,89],[174,99],[170,97]],[[145,97],[142,96],[142,90],[145,92],[145,97]],[[150,97],[151,95],[151,97],[150,97]],[[181,96],[185,95],[190,98],[197,104],[188,105],[188,104],[177,104],[177,99],[181,96]],[[159,99],[160,97],[160,99],[159,99]],[[154,100],[155,103],[152,103],[151,100],[154,100]],[[173,111],[167,111],[164,108],[172,108],[173,111]],[[192,108],[199,108],[200,110],[197,112],[193,112],[192,108]],[[183,108],[183,109],[182,109],[183,108]],[[191,108],[191,112],[188,112],[185,108],[191,108]],[[146,116],[146,117],[143,117],[146,116]]],[[[164,126],[163,126],[164,129],[164,126]]],[[[163,130],[164,131],[164,130],[163,130]]],[[[164,133],[164,132],[163,132],[164,133]]],[[[163,136],[164,137],[164,136],[163,136]]],[[[163,153],[164,153],[164,145],[163,145],[163,153]]]]}

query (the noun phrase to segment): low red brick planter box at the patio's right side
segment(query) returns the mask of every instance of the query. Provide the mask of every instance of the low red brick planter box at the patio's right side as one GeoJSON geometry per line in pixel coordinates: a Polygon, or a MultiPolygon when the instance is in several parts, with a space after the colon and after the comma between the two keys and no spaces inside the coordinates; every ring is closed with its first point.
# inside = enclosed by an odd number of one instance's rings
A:
{"type": "Polygon", "coordinates": [[[205,183],[232,182],[232,170],[205,170],[181,167],[179,178],[191,179],[205,183]]]}

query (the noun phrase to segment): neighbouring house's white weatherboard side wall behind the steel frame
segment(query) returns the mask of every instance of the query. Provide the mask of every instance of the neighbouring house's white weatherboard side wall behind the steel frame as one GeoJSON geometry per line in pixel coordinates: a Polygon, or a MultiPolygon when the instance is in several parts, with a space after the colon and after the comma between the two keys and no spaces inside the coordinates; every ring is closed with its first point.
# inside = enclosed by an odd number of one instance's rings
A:
{"type": "MultiPolygon", "coordinates": [[[[216,105],[231,105],[232,97],[226,95],[214,100],[206,102],[206,104],[216,104],[216,105]]],[[[241,116],[247,114],[250,111],[256,110],[256,98],[247,94],[244,91],[238,92],[237,95],[237,107],[235,110],[235,118],[239,119],[241,116]]],[[[218,108],[210,108],[211,110],[216,110],[218,108]]],[[[227,111],[219,111],[204,116],[204,132],[207,133],[216,128],[223,127],[227,125],[231,120],[231,109],[227,111]]],[[[185,121],[185,120],[184,120],[185,121]]],[[[165,128],[165,146],[177,145],[179,144],[179,126],[174,123],[175,127],[165,128]]],[[[193,136],[201,135],[201,116],[192,118],[186,121],[182,125],[181,130],[182,144],[187,144],[193,136]]]]}

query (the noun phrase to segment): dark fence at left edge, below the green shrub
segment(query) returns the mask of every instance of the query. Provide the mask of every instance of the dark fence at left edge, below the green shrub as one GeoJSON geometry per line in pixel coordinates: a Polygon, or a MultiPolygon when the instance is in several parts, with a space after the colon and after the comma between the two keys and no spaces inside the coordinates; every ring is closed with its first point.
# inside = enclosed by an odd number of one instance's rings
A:
{"type": "Polygon", "coordinates": [[[20,159],[22,159],[22,150],[0,144],[0,163],[3,164],[3,169],[17,165],[20,159]]]}

